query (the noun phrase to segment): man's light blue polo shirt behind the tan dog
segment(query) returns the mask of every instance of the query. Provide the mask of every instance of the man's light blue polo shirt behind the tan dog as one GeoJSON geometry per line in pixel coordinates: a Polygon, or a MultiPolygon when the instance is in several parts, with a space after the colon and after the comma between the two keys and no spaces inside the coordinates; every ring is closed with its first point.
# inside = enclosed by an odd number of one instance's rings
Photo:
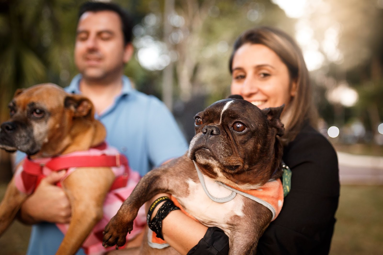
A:
{"type": "MultiPolygon", "coordinates": [[[[75,76],[65,90],[80,94],[80,79],[81,75],[75,76]]],[[[129,166],[142,176],[152,167],[183,155],[187,142],[164,103],[132,88],[128,77],[123,76],[122,81],[121,94],[116,96],[113,105],[95,118],[105,125],[108,144],[123,153],[129,166]]],[[[19,162],[23,156],[18,153],[16,160],[19,162]]],[[[35,224],[27,255],[55,254],[63,238],[55,224],[35,224]]],[[[76,255],[85,253],[80,249],[76,255]]]]}

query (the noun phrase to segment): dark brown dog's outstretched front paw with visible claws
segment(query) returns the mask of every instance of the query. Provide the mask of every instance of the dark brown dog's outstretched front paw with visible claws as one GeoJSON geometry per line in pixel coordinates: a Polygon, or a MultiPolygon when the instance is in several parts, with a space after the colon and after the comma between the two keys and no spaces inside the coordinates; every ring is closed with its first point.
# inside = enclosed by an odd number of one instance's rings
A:
{"type": "Polygon", "coordinates": [[[115,215],[110,222],[106,225],[104,229],[104,238],[102,242],[103,247],[116,245],[116,249],[121,247],[126,242],[126,235],[130,234],[133,230],[133,222],[124,224],[124,222],[119,221],[115,215]]]}

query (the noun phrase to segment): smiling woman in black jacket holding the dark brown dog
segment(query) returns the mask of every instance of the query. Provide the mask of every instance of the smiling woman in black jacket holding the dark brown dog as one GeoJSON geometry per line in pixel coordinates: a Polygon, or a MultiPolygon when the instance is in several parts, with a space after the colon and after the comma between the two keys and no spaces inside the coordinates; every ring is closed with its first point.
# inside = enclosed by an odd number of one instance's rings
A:
{"type": "MultiPolygon", "coordinates": [[[[278,29],[250,29],[234,44],[229,69],[232,94],[260,109],[286,105],[283,160],[293,172],[291,191],[257,254],[328,254],[339,199],[338,163],[331,144],[313,128],[316,111],[301,50],[278,29]]],[[[181,254],[228,254],[222,231],[179,210],[162,221],[162,234],[181,254]]]]}

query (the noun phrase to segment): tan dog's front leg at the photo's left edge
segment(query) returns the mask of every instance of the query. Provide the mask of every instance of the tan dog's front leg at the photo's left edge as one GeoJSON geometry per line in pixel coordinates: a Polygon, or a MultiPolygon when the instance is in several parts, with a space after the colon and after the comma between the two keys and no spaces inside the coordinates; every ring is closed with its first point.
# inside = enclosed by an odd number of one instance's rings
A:
{"type": "Polygon", "coordinates": [[[5,196],[0,204],[0,235],[9,227],[28,195],[21,193],[15,185],[15,177],[7,186],[5,196]]]}

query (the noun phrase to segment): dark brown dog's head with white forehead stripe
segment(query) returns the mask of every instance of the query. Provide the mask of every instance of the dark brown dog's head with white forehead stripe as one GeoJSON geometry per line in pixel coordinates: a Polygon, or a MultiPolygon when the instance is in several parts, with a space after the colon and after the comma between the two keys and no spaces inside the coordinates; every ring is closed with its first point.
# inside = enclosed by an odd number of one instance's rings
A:
{"type": "Polygon", "coordinates": [[[276,137],[284,132],[279,120],[282,110],[283,106],[260,110],[242,99],[218,101],[196,114],[196,135],[188,157],[203,165],[211,178],[257,188],[270,178],[282,157],[276,137]]]}

